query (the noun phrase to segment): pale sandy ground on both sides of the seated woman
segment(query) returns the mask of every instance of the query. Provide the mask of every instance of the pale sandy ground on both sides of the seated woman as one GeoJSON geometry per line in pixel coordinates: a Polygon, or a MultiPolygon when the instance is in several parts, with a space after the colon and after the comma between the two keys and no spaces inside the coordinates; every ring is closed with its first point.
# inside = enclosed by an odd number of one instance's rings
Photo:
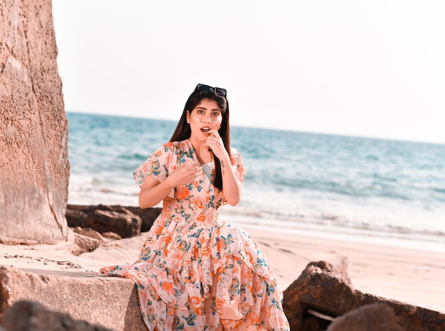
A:
{"type": "MultiPolygon", "coordinates": [[[[309,262],[323,260],[347,271],[358,291],[445,313],[443,253],[243,228],[266,254],[282,290],[309,262]]],[[[80,256],[70,254],[70,239],[56,245],[0,244],[0,264],[24,271],[97,273],[102,266],[134,261],[145,236],[110,241],[80,256]]]]}

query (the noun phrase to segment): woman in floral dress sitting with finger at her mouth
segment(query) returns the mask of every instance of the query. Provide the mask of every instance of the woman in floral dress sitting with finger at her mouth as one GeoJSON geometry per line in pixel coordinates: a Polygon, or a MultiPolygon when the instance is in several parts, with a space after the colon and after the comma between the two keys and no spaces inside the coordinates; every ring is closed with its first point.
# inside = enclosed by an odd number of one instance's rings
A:
{"type": "Polygon", "coordinates": [[[101,269],[136,281],[149,330],[289,330],[272,268],[253,240],[218,221],[237,205],[245,168],[230,148],[225,89],[198,84],[170,142],[134,171],[139,205],[163,208],[134,264],[101,269]]]}

